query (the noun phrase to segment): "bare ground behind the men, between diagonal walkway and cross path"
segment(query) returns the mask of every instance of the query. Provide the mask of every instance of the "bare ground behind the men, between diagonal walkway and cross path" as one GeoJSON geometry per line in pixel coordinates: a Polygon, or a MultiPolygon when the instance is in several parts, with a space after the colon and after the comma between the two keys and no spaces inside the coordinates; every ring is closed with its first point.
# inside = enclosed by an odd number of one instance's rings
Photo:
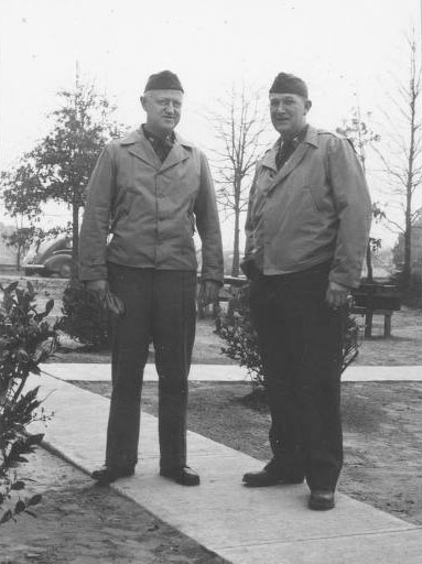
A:
{"type": "MultiPolygon", "coordinates": [[[[78,386],[110,395],[108,382],[78,386]]],[[[187,425],[268,460],[270,415],[246,400],[249,392],[247,383],[191,382],[187,425]]],[[[155,415],[156,408],[156,384],[147,382],[142,409],[155,415]]],[[[422,525],[422,382],[344,382],[343,423],[339,491],[422,525]]]]}

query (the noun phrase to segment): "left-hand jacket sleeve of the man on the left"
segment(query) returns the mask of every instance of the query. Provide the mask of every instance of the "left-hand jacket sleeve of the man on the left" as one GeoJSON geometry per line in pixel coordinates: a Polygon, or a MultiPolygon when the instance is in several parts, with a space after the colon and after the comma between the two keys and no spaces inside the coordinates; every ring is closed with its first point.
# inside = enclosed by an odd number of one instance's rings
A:
{"type": "Polygon", "coordinates": [[[79,235],[79,280],[107,279],[107,236],[115,193],[110,145],[100,154],[87,187],[79,235]]]}

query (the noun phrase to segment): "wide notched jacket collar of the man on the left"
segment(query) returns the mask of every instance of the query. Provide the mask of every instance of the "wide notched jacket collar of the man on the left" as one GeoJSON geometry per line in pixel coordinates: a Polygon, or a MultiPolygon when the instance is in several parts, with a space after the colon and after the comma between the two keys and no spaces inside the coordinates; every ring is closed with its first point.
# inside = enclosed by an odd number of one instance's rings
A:
{"type": "Polygon", "coordinates": [[[141,159],[141,161],[144,161],[160,172],[188,159],[191,153],[190,151],[186,151],[186,148],[191,149],[194,147],[192,143],[185,141],[181,135],[175,133],[173,148],[165,161],[162,163],[156,156],[151,143],[145,138],[142,128],[131,131],[128,135],[122,138],[119,143],[122,147],[127,147],[131,154],[138,156],[138,159],[141,159]]]}

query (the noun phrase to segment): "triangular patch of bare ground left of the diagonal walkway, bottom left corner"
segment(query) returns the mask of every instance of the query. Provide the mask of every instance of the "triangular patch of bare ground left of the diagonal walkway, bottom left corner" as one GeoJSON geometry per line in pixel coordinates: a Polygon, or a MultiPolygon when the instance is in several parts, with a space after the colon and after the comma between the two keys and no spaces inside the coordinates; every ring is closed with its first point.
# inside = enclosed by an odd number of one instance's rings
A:
{"type": "Polygon", "coordinates": [[[0,525],[0,564],[224,564],[134,501],[39,449],[20,475],[36,480],[37,518],[0,525]]]}

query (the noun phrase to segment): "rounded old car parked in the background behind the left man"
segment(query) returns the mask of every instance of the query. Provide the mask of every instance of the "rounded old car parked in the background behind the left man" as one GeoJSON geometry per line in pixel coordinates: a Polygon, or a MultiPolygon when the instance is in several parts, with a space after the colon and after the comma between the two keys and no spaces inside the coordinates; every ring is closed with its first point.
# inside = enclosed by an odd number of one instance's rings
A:
{"type": "Polygon", "coordinates": [[[72,272],[72,238],[58,237],[44,241],[37,249],[32,249],[23,261],[26,276],[69,278],[72,272]]]}

